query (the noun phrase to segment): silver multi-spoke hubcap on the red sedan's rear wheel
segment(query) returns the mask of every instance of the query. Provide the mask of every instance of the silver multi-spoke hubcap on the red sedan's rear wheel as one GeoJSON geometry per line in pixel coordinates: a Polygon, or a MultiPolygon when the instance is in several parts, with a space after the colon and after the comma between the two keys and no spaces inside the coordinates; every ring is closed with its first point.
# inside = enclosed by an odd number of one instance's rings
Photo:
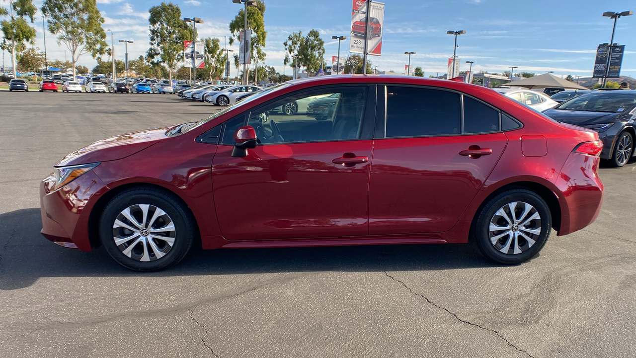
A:
{"type": "Polygon", "coordinates": [[[502,206],[490,220],[490,242],[504,254],[521,254],[541,234],[541,216],[534,206],[515,201],[502,206]]]}

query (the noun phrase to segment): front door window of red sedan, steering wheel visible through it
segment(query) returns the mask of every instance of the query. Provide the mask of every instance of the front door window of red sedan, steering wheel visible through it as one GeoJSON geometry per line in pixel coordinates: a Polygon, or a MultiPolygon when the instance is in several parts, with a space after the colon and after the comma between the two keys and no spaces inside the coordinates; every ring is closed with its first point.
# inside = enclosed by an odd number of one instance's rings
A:
{"type": "Polygon", "coordinates": [[[303,143],[360,138],[366,87],[306,92],[250,114],[258,143],[303,143]]]}

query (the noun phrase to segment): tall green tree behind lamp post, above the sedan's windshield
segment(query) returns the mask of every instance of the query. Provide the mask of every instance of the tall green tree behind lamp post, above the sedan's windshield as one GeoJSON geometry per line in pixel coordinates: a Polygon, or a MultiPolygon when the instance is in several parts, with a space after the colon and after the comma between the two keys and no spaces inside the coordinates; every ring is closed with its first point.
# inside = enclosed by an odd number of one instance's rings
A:
{"type": "MultiPolygon", "coordinates": [[[[247,27],[252,30],[250,56],[252,58],[251,62],[254,62],[254,58],[256,62],[263,62],[265,61],[263,48],[265,48],[265,40],[267,39],[265,20],[263,18],[265,15],[265,3],[262,0],[256,0],[254,4],[256,4],[256,6],[247,6],[247,27]]],[[[244,9],[239,10],[239,13],[237,13],[232,22],[230,22],[230,32],[232,32],[230,45],[232,45],[234,41],[239,41],[240,32],[244,30],[244,13],[244,9]]],[[[249,65],[247,68],[249,69],[249,65]]]]}

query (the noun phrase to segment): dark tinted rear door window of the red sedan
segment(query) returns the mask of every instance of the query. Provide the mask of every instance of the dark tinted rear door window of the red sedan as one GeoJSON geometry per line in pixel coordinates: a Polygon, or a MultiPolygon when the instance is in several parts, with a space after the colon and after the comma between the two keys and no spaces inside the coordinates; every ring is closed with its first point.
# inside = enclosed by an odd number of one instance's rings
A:
{"type": "Polygon", "coordinates": [[[386,137],[460,134],[460,107],[455,92],[387,86],[386,137]]]}

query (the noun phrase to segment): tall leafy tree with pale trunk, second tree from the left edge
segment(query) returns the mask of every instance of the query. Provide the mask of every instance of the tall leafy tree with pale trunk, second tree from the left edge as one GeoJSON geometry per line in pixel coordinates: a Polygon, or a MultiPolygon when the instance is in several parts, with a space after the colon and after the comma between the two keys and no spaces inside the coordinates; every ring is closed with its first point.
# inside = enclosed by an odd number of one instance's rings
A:
{"type": "Polygon", "coordinates": [[[45,0],[42,13],[48,17],[48,31],[57,36],[59,45],[64,43],[71,52],[73,77],[81,55],[90,54],[96,59],[106,53],[104,18],[95,0],[45,0]]]}

